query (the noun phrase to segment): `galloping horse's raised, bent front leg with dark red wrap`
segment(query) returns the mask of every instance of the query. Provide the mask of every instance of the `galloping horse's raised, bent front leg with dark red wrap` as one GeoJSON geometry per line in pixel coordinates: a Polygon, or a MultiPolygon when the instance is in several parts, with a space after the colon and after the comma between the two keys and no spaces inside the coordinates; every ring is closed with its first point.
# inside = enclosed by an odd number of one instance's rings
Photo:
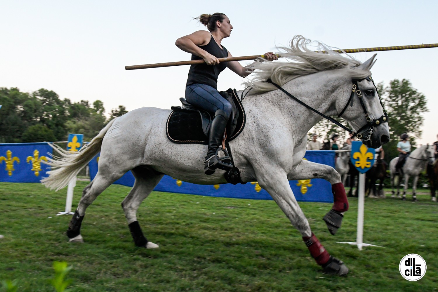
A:
{"type": "Polygon", "coordinates": [[[332,184],[333,206],[322,218],[332,235],[341,228],[344,212],[348,210],[348,200],[341,176],[329,165],[319,164],[308,160],[302,160],[291,173],[288,179],[325,179],[332,184]]]}

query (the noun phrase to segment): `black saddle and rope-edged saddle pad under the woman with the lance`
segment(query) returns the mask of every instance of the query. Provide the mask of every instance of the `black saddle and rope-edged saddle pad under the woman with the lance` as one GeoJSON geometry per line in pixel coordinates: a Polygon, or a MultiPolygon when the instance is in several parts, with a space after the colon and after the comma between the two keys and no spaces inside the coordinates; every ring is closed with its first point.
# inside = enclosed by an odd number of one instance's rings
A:
{"type": "MultiPolygon", "coordinates": [[[[235,89],[219,92],[233,106],[226,126],[226,141],[236,138],[245,127],[245,110],[235,89]]],[[[173,143],[208,145],[208,132],[212,123],[212,115],[203,109],[198,109],[180,98],[181,106],[172,106],[172,112],[167,118],[166,134],[173,143]]]]}

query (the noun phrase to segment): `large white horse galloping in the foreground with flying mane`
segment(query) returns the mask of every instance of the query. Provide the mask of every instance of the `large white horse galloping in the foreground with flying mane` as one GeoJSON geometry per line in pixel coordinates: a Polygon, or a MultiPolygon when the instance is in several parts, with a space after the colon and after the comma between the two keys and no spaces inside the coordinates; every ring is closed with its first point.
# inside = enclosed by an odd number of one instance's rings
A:
{"type": "MultiPolygon", "coordinates": [[[[292,179],[316,178],[326,179],[332,184],[334,204],[325,221],[330,232],[336,233],[343,212],[348,209],[341,178],[328,165],[303,160],[307,132],[321,120],[321,116],[265,80],[272,78],[284,90],[320,113],[328,116],[341,114],[354,130],[362,134],[368,147],[377,148],[387,143],[389,128],[370,78],[369,69],[374,64],[375,55],[361,64],[334,52],[314,53],[307,48],[308,42],[296,36],[291,48],[283,48],[295,62],[262,62],[258,65],[258,79],[254,79],[251,94],[242,102],[247,115],[245,128],[230,141],[230,146],[242,181],[258,181],[299,230],[317,264],[326,273],[344,275],[348,268],[330,256],[314,236],[289,185],[292,179]]],[[[135,109],[110,121],[78,154],[58,150],[60,159],[51,160],[52,170],[42,181],[57,190],[66,186],[100,151],[99,171],[83,191],[67,231],[69,241],[83,240],[80,227],[86,208],[127,171],[134,174],[135,183],[122,207],[134,243],[146,248],[158,245],[145,238],[136,213],[140,203],[164,174],[190,183],[226,183],[222,170],[218,169],[211,176],[205,175],[205,145],[169,141],[165,129],[169,114],[167,109],[135,109]]]]}

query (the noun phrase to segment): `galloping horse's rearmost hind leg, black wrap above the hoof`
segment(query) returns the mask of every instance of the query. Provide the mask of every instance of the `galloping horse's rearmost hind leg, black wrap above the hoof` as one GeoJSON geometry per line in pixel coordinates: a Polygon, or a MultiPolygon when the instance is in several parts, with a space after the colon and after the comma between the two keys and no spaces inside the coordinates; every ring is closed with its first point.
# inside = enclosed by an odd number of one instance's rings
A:
{"type": "Polygon", "coordinates": [[[84,242],[81,236],[81,224],[85,216],[85,210],[89,205],[103,192],[109,185],[124,175],[123,172],[105,172],[98,171],[95,178],[82,191],[82,197],[79,201],[78,208],[74,212],[67,229],[69,242],[84,242]]]}

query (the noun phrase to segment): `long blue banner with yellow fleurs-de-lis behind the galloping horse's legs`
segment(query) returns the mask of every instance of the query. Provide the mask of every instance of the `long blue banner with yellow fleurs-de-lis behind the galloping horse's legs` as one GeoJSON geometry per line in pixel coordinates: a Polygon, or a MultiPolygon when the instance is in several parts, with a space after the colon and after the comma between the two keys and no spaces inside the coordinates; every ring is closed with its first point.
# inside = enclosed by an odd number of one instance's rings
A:
{"type": "MultiPolygon", "coordinates": [[[[94,179],[97,173],[98,158],[99,154],[88,164],[90,179],[94,179]]],[[[304,159],[334,167],[335,151],[306,151],[304,159]]],[[[133,186],[134,176],[131,172],[127,172],[114,183],[124,186],[133,186]]],[[[291,180],[289,183],[297,201],[333,202],[332,186],[325,179],[291,180]]],[[[265,190],[261,189],[257,182],[251,182],[244,185],[232,185],[230,183],[221,185],[198,185],[194,183],[186,183],[170,176],[164,176],[154,190],[169,193],[189,193],[210,197],[272,200],[272,197],[265,190]]]]}

